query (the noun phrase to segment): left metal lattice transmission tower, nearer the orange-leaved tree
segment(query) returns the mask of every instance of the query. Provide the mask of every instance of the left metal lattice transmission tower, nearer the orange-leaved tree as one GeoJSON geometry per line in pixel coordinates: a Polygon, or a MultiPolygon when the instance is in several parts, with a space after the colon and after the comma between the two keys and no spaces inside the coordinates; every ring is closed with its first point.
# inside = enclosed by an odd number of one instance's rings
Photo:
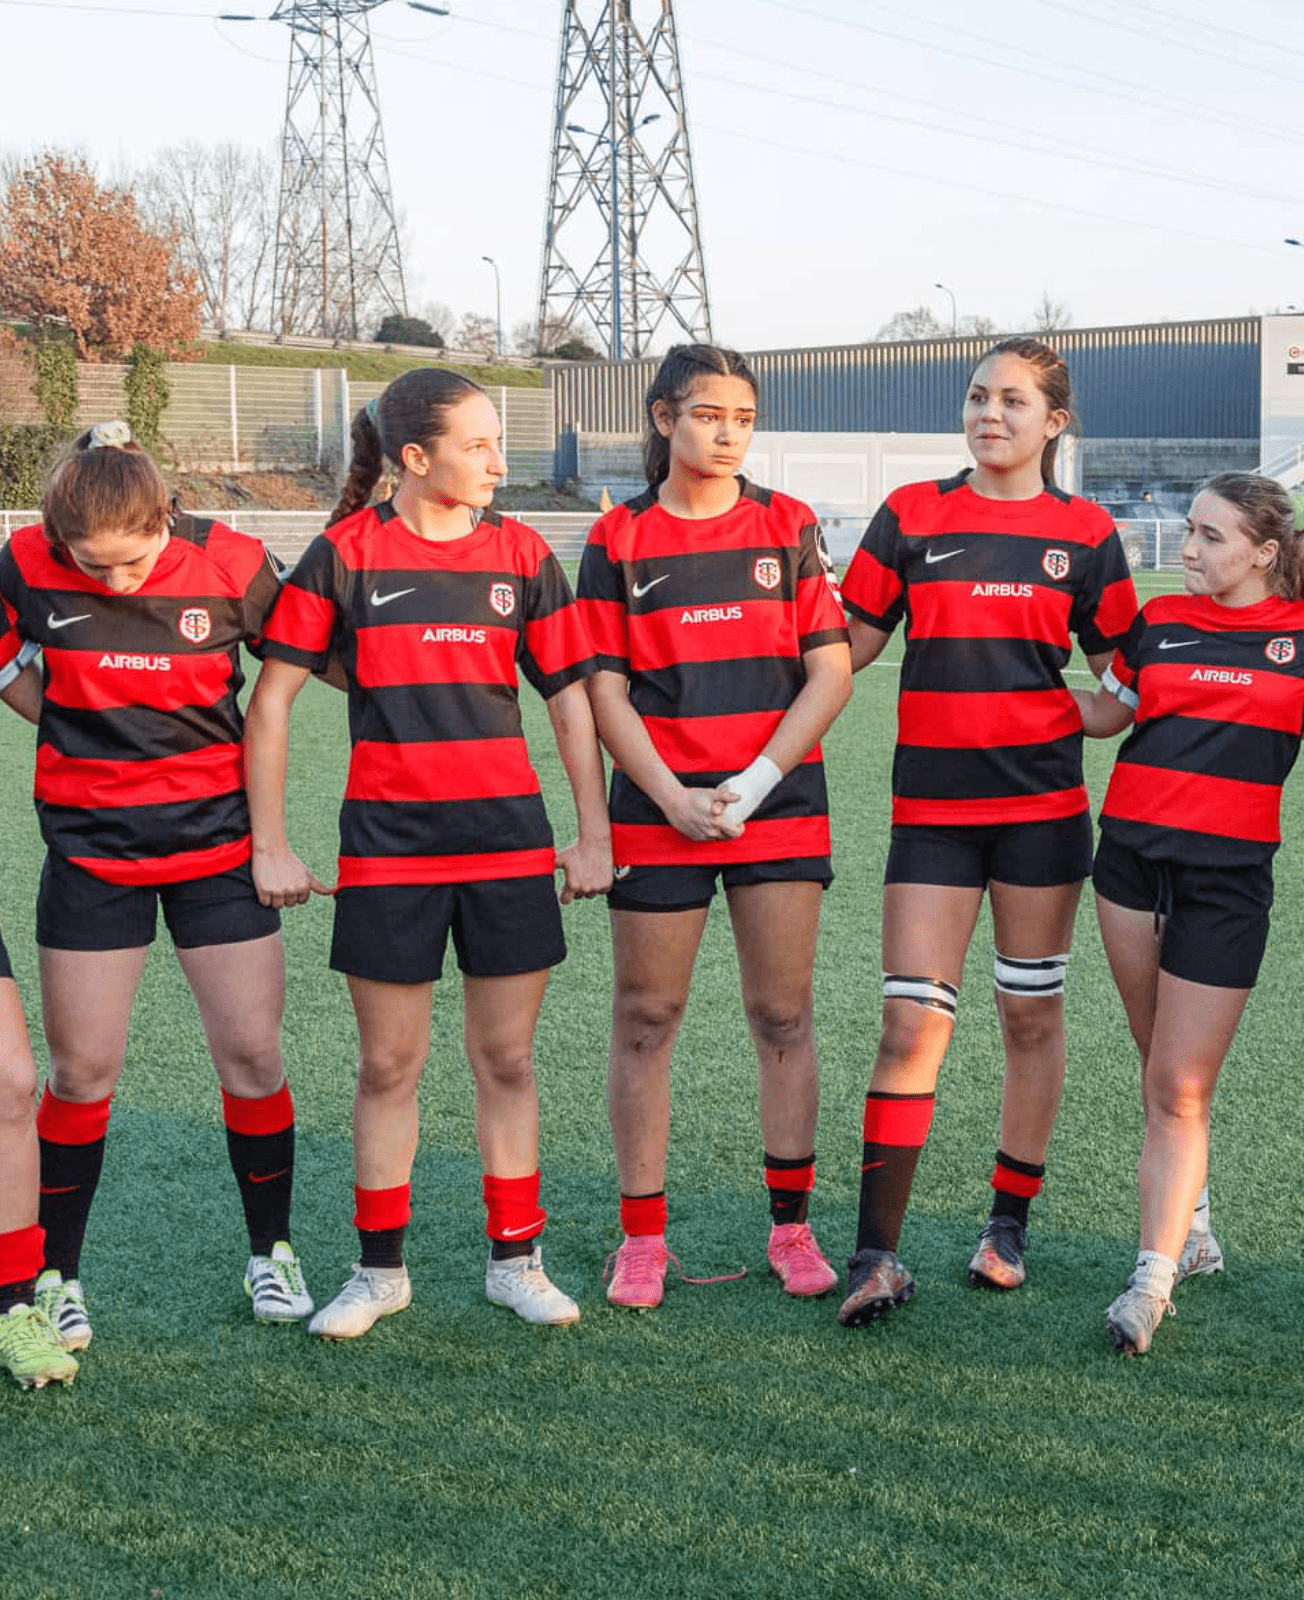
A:
{"type": "Polygon", "coordinates": [[[406,315],[398,224],[366,13],[384,0],[280,0],[290,80],[280,146],[272,325],[358,338],[406,315]]]}

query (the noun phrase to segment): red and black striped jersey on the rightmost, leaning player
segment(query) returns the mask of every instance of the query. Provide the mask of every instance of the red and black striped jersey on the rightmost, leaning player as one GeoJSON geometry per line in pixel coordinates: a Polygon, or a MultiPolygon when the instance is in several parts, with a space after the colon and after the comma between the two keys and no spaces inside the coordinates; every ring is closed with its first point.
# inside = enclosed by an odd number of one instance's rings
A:
{"type": "Polygon", "coordinates": [[[1304,603],[1149,600],[1104,683],[1134,707],[1136,726],[1101,832],[1155,861],[1267,861],[1304,730],[1304,603]]]}

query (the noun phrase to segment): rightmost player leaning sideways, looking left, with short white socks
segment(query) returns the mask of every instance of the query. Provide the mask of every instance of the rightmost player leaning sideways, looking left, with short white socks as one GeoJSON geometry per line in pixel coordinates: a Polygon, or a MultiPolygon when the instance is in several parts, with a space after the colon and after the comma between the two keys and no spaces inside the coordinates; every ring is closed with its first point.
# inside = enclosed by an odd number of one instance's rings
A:
{"type": "Polygon", "coordinates": [[[1102,686],[1074,698],[1123,741],[1101,808],[1096,910],[1141,1053],[1141,1253],[1106,1312],[1150,1347],[1182,1278],[1221,1272],[1208,1227],[1210,1106],[1259,973],[1282,784],[1304,731],[1304,552],[1272,478],[1195,496],[1184,594],[1147,600],[1102,686]]]}

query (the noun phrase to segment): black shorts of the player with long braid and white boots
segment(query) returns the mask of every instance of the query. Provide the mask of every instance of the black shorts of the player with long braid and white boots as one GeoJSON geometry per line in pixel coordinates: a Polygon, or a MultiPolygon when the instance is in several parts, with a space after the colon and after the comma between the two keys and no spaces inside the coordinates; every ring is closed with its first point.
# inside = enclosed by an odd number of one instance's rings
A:
{"type": "Polygon", "coordinates": [[[467,978],[514,978],[566,958],[557,885],[547,874],[338,890],[331,966],[378,984],[429,984],[443,974],[450,931],[467,978]]]}

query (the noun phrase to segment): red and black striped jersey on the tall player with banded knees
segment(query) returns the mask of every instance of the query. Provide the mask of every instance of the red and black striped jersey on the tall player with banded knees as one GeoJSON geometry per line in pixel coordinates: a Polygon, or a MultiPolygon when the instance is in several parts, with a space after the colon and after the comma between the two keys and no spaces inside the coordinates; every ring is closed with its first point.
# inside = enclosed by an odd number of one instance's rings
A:
{"type": "Polygon", "coordinates": [[[878,509],[842,584],[853,616],[906,619],[893,822],[957,827],[1078,816],[1082,717],[1072,637],[1112,650],[1136,616],[1107,512],[1046,488],[974,494],[968,472],[878,509]]]}

